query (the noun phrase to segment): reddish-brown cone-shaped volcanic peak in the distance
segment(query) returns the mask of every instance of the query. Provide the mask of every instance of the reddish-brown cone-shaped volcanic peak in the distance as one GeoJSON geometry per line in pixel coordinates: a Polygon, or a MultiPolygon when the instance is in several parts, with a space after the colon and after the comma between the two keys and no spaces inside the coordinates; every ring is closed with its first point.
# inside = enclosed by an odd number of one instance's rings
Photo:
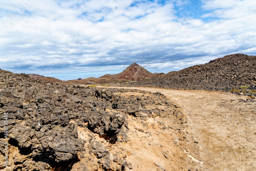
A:
{"type": "Polygon", "coordinates": [[[137,81],[140,79],[150,78],[156,74],[152,74],[151,72],[147,71],[143,67],[139,66],[137,63],[133,63],[129,67],[127,67],[123,72],[119,74],[106,74],[103,75],[101,78],[108,78],[108,79],[125,79],[125,80],[132,80],[137,81]]]}

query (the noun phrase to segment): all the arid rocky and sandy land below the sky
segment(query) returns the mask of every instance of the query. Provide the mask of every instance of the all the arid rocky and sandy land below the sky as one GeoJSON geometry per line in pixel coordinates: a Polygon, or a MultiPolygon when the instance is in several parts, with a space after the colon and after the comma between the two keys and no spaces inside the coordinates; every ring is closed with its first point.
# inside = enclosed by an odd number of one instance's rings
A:
{"type": "Polygon", "coordinates": [[[0,69],[0,169],[256,170],[255,57],[70,81],[0,69]]]}

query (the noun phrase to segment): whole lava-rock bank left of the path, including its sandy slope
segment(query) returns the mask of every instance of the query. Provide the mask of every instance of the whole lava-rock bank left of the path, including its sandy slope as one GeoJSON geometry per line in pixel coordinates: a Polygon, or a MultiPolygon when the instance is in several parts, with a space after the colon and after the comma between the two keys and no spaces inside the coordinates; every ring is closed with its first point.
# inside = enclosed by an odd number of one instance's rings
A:
{"type": "Polygon", "coordinates": [[[180,133],[183,117],[161,93],[70,86],[3,70],[0,115],[3,170],[129,170],[140,164],[147,167],[142,162],[151,157],[147,149],[154,149],[157,156],[162,153],[161,163],[155,163],[155,156],[147,160],[149,167],[173,168],[169,153],[179,152],[169,142],[176,138],[177,144],[177,137],[171,135],[180,133]],[[8,167],[3,156],[4,113],[8,114],[8,167]],[[174,123],[177,130],[170,127],[174,123]],[[145,131],[157,128],[157,132],[145,131]],[[163,145],[157,143],[161,138],[166,141],[163,145]],[[144,156],[138,154],[139,142],[151,145],[143,148],[144,156]]]}

